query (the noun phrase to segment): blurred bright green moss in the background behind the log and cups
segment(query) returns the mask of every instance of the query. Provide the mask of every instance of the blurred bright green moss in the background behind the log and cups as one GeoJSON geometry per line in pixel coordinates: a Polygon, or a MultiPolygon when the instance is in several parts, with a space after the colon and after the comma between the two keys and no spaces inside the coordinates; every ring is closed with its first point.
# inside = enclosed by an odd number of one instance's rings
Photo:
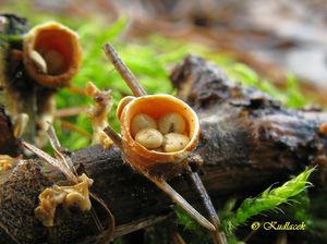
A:
{"type": "MultiPolygon", "coordinates": [[[[63,4],[59,1],[57,5],[60,3],[63,4]]],[[[7,1],[1,4],[0,10],[26,17],[31,26],[55,20],[74,29],[81,36],[83,65],[72,81],[72,88],[63,88],[56,96],[58,110],[88,107],[92,103],[88,97],[72,93],[76,88],[77,90],[84,89],[88,81],[94,82],[99,88],[111,89],[114,106],[123,96],[131,94],[118,72],[105,58],[102,46],[106,42],[113,45],[122,60],[149,94],[175,94],[169,82],[170,70],[175,63],[181,62],[185,56],[193,53],[217,63],[230,78],[245,85],[259,87],[289,107],[302,107],[308,103],[307,99],[305,100],[301,95],[294,75],[287,75],[286,88],[281,90],[271,84],[268,78],[261,77],[250,66],[235,61],[223,49],[217,50],[201,41],[169,38],[167,35],[153,30],[141,37],[131,34],[135,28],[135,20],[128,13],[108,17],[97,12],[87,14],[76,13],[75,10],[72,10],[72,14],[66,11],[57,12],[51,4],[44,8],[46,9],[38,9],[38,1],[21,0],[7,1]]],[[[119,131],[114,109],[110,113],[109,121],[119,131]]],[[[74,124],[90,134],[92,126],[86,113],[59,118],[56,120],[55,125],[61,143],[69,149],[73,150],[90,144],[88,136],[62,127],[62,121],[74,124]]]]}

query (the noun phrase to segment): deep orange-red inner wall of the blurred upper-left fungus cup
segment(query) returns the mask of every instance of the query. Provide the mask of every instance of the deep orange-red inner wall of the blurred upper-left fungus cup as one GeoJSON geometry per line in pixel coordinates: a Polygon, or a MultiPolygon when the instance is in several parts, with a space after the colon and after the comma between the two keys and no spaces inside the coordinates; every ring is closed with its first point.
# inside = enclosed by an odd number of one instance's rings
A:
{"type": "Polygon", "coordinates": [[[50,75],[63,74],[69,70],[73,59],[71,34],[65,29],[40,29],[35,39],[33,50],[36,50],[45,59],[50,75]],[[61,69],[56,72],[51,72],[51,61],[47,60],[45,56],[49,51],[56,51],[63,61],[61,69]]]}

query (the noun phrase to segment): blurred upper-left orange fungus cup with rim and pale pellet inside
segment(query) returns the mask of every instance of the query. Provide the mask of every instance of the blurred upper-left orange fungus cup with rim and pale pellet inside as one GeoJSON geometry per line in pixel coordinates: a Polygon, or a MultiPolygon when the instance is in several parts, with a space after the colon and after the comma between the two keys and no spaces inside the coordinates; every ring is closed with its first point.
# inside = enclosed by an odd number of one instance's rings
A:
{"type": "Polygon", "coordinates": [[[56,22],[37,25],[24,37],[23,59],[28,75],[46,87],[62,87],[82,63],[80,37],[56,22]]]}

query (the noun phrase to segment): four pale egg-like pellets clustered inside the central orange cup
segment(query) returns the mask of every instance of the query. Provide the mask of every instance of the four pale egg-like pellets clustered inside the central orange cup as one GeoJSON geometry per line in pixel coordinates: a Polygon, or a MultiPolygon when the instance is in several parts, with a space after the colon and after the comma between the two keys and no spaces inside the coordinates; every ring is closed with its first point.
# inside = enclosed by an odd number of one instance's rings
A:
{"type": "Polygon", "coordinates": [[[157,121],[146,113],[138,113],[132,120],[131,133],[138,144],[159,152],[182,150],[190,142],[186,122],[177,112],[164,114],[157,121]]]}

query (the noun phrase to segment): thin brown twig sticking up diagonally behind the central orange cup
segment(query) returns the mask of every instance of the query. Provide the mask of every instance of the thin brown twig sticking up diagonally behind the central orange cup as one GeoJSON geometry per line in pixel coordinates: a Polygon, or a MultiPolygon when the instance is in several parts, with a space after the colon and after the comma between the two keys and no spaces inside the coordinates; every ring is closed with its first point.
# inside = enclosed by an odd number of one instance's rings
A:
{"type": "Polygon", "coordinates": [[[110,44],[106,44],[104,50],[107,58],[111,61],[112,65],[120,73],[121,77],[126,82],[134,96],[135,97],[145,96],[146,91],[140,86],[135,75],[130,71],[126,64],[124,64],[124,62],[119,58],[113,47],[110,44]]]}

